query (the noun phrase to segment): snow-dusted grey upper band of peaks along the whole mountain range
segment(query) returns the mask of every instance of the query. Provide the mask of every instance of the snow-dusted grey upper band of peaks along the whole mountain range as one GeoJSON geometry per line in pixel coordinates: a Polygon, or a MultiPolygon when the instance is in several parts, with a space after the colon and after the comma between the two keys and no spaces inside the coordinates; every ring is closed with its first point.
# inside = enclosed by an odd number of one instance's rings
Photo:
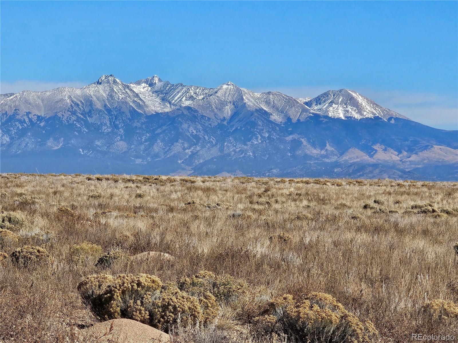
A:
{"type": "MultiPolygon", "coordinates": [[[[353,117],[406,118],[383,108],[360,94],[349,91],[327,91],[314,99],[295,99],[280,92],[254,93],[224,83],[216,88],[171,84],[157,75],[125,84],[113,75],[102,75],[97,82],[82,88],[60,87],[50,91],[22,91],[0,97],[3,116],[35,120],[36,116],[89,116],[91,121],[109,121],[113,113],[131,118],[132,113],[150,115],[180,107],[191,107],[203,115],[226,121],[234,113],[263,113],[276,123],[293,122],[314,114],[335,118],[353,117]],[[96,113],[96,114],[90,114],[96,113]]],[[[69,120],[72,120],[68,118],[69,120]]]]}

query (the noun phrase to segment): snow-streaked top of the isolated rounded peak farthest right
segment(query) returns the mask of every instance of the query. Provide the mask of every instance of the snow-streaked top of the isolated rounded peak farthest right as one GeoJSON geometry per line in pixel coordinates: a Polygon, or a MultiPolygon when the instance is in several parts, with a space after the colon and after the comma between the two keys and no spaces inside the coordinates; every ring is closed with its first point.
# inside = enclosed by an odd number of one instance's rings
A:
{"type": "Polygon", "coordinates": [[[380,117],[385,120],[389,117],[408,119],[355,91],[339,89],[327,91],[305,102],[312,110],[333,118],[353,117],[355,119],[380,117]]]}

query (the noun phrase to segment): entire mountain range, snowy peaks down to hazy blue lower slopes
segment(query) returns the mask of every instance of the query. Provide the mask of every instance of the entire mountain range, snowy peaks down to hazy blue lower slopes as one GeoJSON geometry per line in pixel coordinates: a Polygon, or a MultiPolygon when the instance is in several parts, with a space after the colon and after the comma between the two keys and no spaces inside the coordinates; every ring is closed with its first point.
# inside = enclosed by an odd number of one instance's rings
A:
{"type": "Polygon", "coordinates": [[[294,98],[102,75],[2,94],[0,112],[1,172],[458,180],[457,131],[347,89],[294,98]]]}

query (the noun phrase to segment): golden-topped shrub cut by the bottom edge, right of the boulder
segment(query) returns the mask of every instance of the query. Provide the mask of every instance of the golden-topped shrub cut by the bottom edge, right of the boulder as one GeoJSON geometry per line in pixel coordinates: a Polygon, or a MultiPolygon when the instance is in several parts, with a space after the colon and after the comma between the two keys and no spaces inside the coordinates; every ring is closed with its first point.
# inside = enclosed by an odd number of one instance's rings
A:
{"type": "Polygon", "coordinates": [[[292,295],[272,300],[264,316],[255,318],[258,330],[282,332],[300,342],[369,343],[378,336],[371,321],[361,322],[331,295],[311,293],[296,301],[292,295]]]}

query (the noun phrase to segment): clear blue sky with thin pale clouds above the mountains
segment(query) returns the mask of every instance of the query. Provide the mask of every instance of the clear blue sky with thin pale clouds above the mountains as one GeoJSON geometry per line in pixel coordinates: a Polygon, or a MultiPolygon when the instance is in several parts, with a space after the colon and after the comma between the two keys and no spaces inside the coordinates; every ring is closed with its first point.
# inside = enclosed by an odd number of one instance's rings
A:
{"type": "Polygon", "coordinates": [[[457,1],[1,1],[1,92],[102,74],[316,96],[458,127],[457,1]]]}

